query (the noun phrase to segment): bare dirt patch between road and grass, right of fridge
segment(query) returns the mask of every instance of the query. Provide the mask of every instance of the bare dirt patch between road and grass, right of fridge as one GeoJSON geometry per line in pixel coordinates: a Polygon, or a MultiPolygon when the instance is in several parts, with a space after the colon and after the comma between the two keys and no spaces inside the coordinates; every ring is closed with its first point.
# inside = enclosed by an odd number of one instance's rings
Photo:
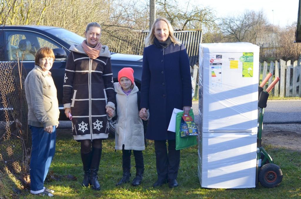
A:
{"type": "Polygon", "coordinates": [[[262,142],[301,151],[301,124],[264,124],[262,142]]]}

